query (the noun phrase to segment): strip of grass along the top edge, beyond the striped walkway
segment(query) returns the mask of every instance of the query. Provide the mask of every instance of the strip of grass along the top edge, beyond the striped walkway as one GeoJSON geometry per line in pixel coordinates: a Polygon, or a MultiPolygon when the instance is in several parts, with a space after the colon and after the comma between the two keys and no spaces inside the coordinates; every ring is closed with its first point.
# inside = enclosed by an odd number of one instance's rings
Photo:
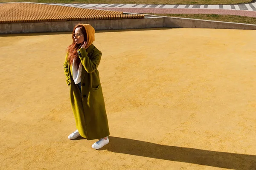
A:
{"type": "MultiPolygon", "coordinates": [[[[5,2],[20,2],[22,0],[0,0],[5,2]]],[[[116,3],[116,4],[236,4],[249,3],[251,0],[26,0],[35,3],[116,3]]]]}

